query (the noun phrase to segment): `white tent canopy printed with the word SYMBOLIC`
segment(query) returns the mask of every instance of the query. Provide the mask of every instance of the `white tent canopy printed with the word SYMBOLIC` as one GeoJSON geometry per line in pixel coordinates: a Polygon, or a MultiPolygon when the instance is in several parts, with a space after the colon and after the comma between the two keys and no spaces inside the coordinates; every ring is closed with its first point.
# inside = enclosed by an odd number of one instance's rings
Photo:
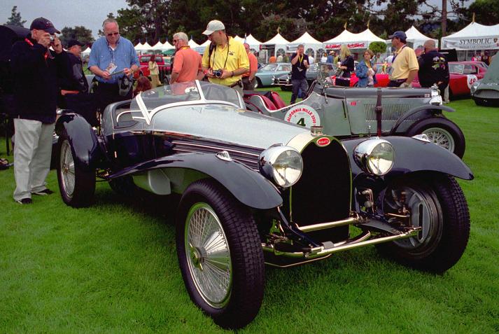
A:
{"type": "Polygon", "coordinates": [[[456,50],[499,49],[499,25],[469,25],[449,36],[442,37],[442,48],[456,50]]]}

